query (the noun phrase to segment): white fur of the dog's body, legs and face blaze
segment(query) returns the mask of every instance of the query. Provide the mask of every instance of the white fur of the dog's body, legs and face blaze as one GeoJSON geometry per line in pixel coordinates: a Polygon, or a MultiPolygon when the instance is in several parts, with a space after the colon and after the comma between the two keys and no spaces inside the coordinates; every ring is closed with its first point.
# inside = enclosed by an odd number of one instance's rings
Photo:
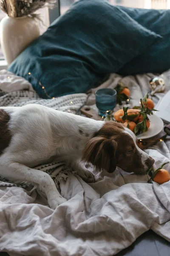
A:
{"type": "MultiPolygon", "coordinates": [[[[57,191],[50,175],[35,170],[35,166],[60,157],[71,168],[78,170],[78,175],[84,180],[94,180],[93,174],[80,161],[86,143],[102,128],[103,121],[35,104],[1,109],[10,115],[8,128],[12,133],[10,144],[0,155],[1,177],[27,181],[39,186],[46,194],[52,209],[66,200],[57,191]]],[[[129,129],[125,128],[125,132],[135,140],[129,129]]],[[[140,149],[139,151],[144,163],[148,155],[140,149]]]]}

